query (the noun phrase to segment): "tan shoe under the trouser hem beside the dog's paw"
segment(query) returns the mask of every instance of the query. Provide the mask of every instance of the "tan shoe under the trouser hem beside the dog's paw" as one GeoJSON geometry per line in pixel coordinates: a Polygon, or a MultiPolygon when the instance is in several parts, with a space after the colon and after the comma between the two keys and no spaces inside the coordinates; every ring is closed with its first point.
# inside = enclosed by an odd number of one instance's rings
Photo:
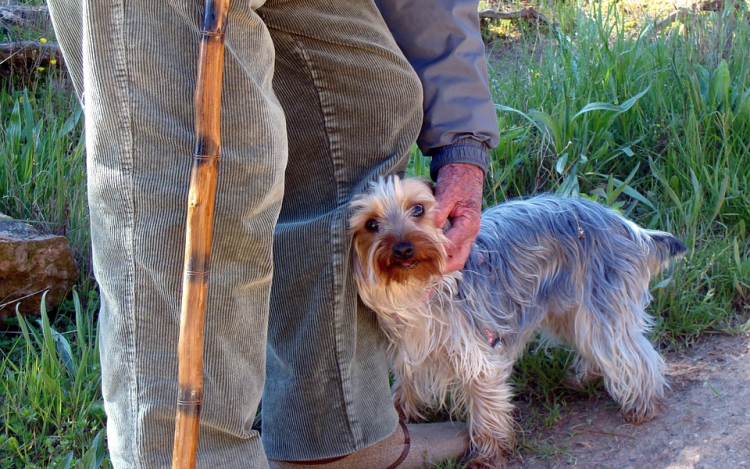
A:
{"type": "Polygon", "coordinates": [[[315,461],[270,460],[271,469],[416,469],[459,459],[470,447],[469,431],[460,422],[399,422],[385,440],[352,454],[315,461]]]}

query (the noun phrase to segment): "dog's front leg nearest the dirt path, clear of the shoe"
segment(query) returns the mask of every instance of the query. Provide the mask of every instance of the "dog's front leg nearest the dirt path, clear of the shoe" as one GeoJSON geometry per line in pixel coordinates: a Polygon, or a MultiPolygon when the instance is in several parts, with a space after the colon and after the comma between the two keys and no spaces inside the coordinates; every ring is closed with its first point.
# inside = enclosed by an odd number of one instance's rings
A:
{"type": "Polygon", "coordinates": [[[509,384],[513,361],[503,350],[477,344],[456,355],[457,389],[466,406],[474,460],[470,467],[503,467],[515,447],[513,393],[509,384]]]}

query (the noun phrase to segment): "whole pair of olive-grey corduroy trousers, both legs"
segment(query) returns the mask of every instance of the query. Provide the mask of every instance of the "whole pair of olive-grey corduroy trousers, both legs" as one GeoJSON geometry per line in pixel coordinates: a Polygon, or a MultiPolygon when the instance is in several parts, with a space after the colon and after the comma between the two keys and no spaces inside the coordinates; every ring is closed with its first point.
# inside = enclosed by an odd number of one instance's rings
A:
{"type": "MultiPolygon", "coordinates": [[[[169,467],[203,2],[49,4],[85,112],[110,457],[169,467]]],[[[332,457],[395,429],[347,203],[403,171],[421,123],[419,81],[371,1],[232,2],[199,467],[332,457]]]]}

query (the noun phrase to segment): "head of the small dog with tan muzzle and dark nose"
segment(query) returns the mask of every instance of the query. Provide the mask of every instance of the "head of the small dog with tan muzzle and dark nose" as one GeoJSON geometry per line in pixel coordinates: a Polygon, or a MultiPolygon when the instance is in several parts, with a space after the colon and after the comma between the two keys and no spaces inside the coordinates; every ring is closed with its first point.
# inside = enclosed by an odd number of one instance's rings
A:
{"type": "Polygon", "coordinates": [[[435,224],[432,187],[420,179],[389,176],[351,204],[354,273],[364,285],[424,292],[445,266],[443,230],[435,224]]]}

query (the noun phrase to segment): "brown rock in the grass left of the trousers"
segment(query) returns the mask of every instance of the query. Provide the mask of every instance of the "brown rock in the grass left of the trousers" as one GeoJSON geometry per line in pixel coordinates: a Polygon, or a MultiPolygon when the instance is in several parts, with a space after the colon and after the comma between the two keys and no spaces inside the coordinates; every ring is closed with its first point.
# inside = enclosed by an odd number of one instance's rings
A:
{"type": "Polygon", "coordinates": [[[55,308],[78,280],[78,266],[64,236],[45,235],[0,214],[0,319],[38,315],[42,294],[55,308]]]}

